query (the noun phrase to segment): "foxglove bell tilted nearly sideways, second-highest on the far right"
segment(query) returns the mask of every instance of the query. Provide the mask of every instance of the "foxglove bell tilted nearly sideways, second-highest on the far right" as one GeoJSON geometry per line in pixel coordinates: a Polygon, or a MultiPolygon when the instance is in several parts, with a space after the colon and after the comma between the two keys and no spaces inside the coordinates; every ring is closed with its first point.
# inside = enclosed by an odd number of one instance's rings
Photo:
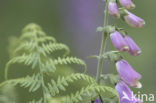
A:
{"type": "Polygon", "coordinates": [[[123,17],[127,24],[129,24],[130,26],[135,27],[135,28],[141,28],[145,25],[145,21],[142,18],[140,18],[128,11],[127,11],[127,13],[128,13],[128,15],[125,15],[123,17]]]}

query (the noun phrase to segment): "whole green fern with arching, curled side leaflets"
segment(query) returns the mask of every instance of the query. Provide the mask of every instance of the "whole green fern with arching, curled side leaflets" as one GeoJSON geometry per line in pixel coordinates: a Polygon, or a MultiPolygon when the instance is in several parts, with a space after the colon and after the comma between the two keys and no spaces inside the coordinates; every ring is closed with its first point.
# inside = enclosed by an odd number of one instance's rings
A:
{"type": "Polygon", "coordinates": [[[62,69],[58,68],[60,65],[77,64],[83,66],[84,72],[86,72],[85,62],[77,57],[70,57],[69,53],[68,46],[57,43],[55,38],[47,36],[38,25],[29,24],[23,29],[22,35],[16,39],[14,47],[12,47],[11,59],[5,68],[7,81],[1,83],[0,87],[10,84],[28,88],[29,92],[41,90],[42,96],[37,101],[32,100],[29,103],[52,103],[54,98],[61,96],[60,93],[66,91],[76,81],[85,81],[87,85],[75,93],[63,95],[62,103],[82,102],[84,95],[90,97],[89,101],[91,101],[95,94],[107,92],[117,96],[114,89],[98,85],[94,78],[84,73],[73,73],[68,76],[57,75],[57,79],[53,78],[54,75],[56,76],[56,71],[62,69]],[[58,51],[64,52],[63,54],[59,52],[59,55],[56,55],[58,51]],[[28,66],[32,72],[26,77],[8,79],[8,72],[13,64],[28,66]]]}

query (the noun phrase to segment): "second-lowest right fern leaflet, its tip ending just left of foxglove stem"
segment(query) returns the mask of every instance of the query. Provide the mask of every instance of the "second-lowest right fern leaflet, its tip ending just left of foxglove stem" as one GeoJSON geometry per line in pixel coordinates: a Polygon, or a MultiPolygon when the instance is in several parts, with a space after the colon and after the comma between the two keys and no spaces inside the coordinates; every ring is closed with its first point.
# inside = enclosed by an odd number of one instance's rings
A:
{"type": "Polygon", "coordinates": [[[96,80],[94,78],[85,74],[76,73],[67,77],[58,77],[56,82],[51,80],[51,82],[48,83],[48,89],[52,96],[55,96],[56,94],[59,94],[60,90],[65,91],[69,83],[77,80],[84,80],[88,82],[88,84],[96,84],[96,80]]]}

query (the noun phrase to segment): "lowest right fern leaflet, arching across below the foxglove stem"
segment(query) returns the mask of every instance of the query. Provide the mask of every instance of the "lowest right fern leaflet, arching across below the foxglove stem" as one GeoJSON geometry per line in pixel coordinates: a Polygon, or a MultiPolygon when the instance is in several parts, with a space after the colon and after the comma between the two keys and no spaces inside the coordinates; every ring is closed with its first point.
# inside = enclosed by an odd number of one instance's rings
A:
{"type": "Polygon", "coordinates": [[[88,85],[87,87],[83,87],[80,91],[77,91],[75,94],[71,94],[67,96],[67,102],[66,103],[78,103],[83,100],[83,95],[91,96],[95,92],[100,93],[106,93],[110,92],[115,96],[118,96],[115,89],[107,86],[99,86],[99,85],[88,85]]]}

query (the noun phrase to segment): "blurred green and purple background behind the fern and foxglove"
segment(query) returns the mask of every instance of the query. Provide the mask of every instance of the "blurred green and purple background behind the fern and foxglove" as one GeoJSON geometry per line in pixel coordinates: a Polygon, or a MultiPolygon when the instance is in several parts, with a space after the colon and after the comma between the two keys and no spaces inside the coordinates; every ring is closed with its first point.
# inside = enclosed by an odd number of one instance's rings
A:
{"type": "MultiPolygon", "coordinates": [[[[137,6],[132,12],[146,21],[144,28],[131,28],[121,20],[110,21],[125,28],[141,47],[142,55],[125,54],[125,58],[142,74],[143,88],[139,91],[156,95],[156,1],[134,2],[137,6]]],[[[102,0],[0,0],[0,81],[4,80],[4,67],[9,60],[9,37],[20,36],[22,28],[31,22],[67,44],[73,55],[87,62],[88,73],[95,75],[97,61],[87,57],[98,53],[101,35],[96,33],[96,27],[103,23],[103,9],[102,0]]],[[[104,69],[105,73],[115,71],[109,62],[104,69]]]]}

